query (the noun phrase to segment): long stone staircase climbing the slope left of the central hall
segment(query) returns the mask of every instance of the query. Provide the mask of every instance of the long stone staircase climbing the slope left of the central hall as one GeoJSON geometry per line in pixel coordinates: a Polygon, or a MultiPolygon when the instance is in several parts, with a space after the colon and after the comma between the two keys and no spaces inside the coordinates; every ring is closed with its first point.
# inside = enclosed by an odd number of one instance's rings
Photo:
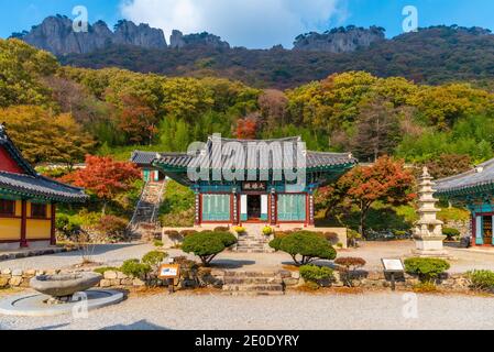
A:
{"type": "Polygon", "coordinates": [[[165,182],[149,182],[144,186],[141,199],[129,224],[129,232],[133,240],[152,241],[155,233],[160,232],[157,216],[165,187],[165,182]]]}

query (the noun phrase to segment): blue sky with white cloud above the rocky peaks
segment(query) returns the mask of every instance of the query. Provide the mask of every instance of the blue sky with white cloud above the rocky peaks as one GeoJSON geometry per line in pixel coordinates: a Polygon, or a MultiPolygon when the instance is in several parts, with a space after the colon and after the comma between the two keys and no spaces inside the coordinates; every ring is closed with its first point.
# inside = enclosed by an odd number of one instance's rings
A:
{"type": "Polygon", "coordinates": [[[72,16],[88,9],[89,22],[113,25],[125,18],[185,33],[208,31],[246,47],[290,47],[308,31],[355,24],[381,25],[387,36],[402,33],[405,6],[418,9],[419,26],[459,24],[494,30],[493,0],[0,0],[0,37],[29,30],[50,14],[72,16]]]}

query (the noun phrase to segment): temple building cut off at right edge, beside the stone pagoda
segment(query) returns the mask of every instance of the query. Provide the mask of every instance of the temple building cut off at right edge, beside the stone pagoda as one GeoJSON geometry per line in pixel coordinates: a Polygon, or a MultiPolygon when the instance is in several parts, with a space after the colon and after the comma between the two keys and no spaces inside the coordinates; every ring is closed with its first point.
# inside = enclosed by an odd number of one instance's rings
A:
{"type": "Polygon", "coordinates": [[[437,182],[436,196],[464,206],[472,215],[472,245],[494,245],[494,158],[470,172],[437,182]]]}

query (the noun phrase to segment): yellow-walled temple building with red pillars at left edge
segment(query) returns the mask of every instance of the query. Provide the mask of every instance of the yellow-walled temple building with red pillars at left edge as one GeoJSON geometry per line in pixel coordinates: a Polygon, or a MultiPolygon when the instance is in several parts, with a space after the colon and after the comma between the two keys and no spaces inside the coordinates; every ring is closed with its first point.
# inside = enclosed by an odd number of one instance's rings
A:
{"type": "Polygon", "coordinates": [[[56,205],[86,199],[83,189],[39,175],[0,125],[0,250],[55,245],[56,205]]]}

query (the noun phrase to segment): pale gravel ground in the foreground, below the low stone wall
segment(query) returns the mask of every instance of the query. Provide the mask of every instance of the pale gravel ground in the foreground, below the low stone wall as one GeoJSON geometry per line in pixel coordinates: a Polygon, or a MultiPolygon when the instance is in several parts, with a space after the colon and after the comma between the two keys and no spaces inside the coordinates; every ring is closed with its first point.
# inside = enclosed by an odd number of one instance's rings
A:
{"type": "Polygon", "coordinates": [[[413,297],[392,293],[281,297],[158,294],[91,311],[88,319],[0,317],[0,329],[494,329],[492,298],[417,297],[417,316],[407,319],[403,311],[410,311],[407,307],[413,297]]]}

